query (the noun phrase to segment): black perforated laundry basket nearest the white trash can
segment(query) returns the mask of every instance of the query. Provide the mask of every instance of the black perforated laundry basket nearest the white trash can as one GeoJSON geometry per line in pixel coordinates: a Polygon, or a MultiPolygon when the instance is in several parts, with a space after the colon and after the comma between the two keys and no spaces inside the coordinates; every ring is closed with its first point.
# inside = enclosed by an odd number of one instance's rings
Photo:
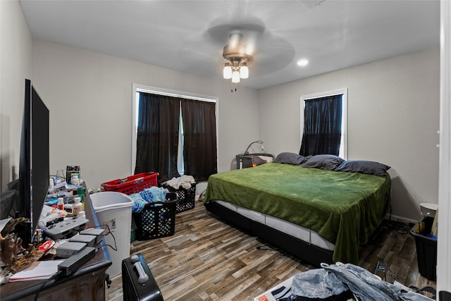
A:
{"type": "Polygon", "coordinates": [[[133,213],[136,223],[136,238],[149,240],[174,235],[175,204],[178,197],[175,192],[166,193],[166,202],[145,204],[141,212],[133,213]]]}

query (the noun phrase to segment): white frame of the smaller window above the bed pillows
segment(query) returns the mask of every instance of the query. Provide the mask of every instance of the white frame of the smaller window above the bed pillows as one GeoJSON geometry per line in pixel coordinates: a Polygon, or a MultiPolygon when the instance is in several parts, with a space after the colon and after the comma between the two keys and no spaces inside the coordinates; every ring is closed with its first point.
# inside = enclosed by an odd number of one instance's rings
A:
{"type": "Polygon", "coordinates": [[[301,97],[301,128],[300,128],[300,135],[301,135],[301,141],[302,136],[304,134],[304,108],[305,108],[305,102],[312,100],[312,99],[320,99],[323,97],[330,97],[334,95],[341,95],[341,136],[340,136],[340,152],[338,156],[341,158],[347,160],[347,89],[341,89],[341,90],[335,90],[330,92],[321,92],[318,94],[309,94],[304,95],[301,97]]]}

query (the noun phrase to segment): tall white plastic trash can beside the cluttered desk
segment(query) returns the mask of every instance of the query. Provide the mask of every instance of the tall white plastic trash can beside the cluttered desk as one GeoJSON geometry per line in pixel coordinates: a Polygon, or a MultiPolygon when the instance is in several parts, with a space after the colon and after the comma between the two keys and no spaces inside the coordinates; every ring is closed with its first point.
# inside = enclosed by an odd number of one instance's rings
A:
{"type": "MultiPolygon", "coordinates": [[[[135,202],[121,192],[98,192],[89,196],[96,211],[99,226],[108,225],[111,234],[104,237],[106,245],[117,247],[117,251],[108,247],[111,266],[106,270],[111,278],[121,274],[122,259],[130,257],[130,228],[132,224],[132,206],[135,202]],[[116,244],[114,240],[116,239],[116,244]]],[[[108,231],[106,226],[102,227],[108,231]]]]}

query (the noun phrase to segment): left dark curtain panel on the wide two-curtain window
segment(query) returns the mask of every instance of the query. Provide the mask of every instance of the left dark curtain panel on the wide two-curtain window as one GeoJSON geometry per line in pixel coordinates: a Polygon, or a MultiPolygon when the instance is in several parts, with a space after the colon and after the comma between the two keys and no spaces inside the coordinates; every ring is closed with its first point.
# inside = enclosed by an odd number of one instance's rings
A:
{"type": "Polygon", "coordinates": [[[180,98],[140,92],[135,174],[158,171],[159,183],[177,170],[180,98]]]}

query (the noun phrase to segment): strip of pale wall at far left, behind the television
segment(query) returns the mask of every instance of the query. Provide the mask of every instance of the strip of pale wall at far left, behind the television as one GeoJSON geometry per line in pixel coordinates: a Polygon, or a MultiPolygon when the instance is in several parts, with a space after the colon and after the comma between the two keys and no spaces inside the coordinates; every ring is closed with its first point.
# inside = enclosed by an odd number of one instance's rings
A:
{"type": "Polygon", "coordinates": [[[32,37],[18,1],[0,1],[0,46],[1,193],[18,177],[25,78],[32,73],[32,37]]]}

